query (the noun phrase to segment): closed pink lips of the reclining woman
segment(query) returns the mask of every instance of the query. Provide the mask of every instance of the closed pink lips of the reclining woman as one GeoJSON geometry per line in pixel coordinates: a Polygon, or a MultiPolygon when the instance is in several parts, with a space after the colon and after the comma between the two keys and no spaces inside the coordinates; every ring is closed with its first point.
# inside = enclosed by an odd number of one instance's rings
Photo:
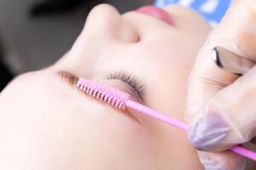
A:
{"type": "Polygon", "coordinates": [[[148,14],[154,18],[165,21],[167,24],[174,26],[174,22],[171,16],[162,8],[156,8],[154,6],[144,6],[136,10],[137,13],[148,14]]]}

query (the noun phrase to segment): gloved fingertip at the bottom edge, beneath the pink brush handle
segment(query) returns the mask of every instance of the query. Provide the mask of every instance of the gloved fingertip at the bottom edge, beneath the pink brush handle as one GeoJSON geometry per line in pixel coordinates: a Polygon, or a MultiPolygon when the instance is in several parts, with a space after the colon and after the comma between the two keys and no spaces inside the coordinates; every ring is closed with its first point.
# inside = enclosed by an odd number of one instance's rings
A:
{"type": "Polygon", "coordinates": [[[205,152],[197,151],[206,170],[245,170],[247,160],[231,151],[205,152]]]}

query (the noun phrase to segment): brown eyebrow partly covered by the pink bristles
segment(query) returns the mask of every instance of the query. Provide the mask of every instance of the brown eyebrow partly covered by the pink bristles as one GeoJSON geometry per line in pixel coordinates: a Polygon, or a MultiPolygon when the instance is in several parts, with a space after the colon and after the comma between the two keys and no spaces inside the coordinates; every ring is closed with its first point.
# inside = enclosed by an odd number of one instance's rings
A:
{"type": "MultiPolygon", "coordinates": [[[[77,82],[79,81],[79,77],[73,75],[72,73],[70,73],[68,71],[57,71],[56,75],[57,75],[57,77],[60,77],[63,82],[67,82],[67,85],[69,85],[69,87],[71,87],[71,88],[75,88],[77,85],[77,82]]],[[[79,90],[79,92],[82,92],[82,91],[79,90]]],[[[105,102],[102,102],[102,104],[108,105],[105,102]]],[[[110,105],[108,105],[108,106],[110,106],[110,105]]],[[[119,109],[117,109],[115,107],[112,107],[112,108],[114,110],[120,111],[119,109]]],[[[123,114],[125,114],[125,116],[129,116],[131,119],[133,119],[134,121],[141,124],[141,122],[138,120],[137,116],[134,116],[127,111],[121,111],[121,112],[123,114]]]]}

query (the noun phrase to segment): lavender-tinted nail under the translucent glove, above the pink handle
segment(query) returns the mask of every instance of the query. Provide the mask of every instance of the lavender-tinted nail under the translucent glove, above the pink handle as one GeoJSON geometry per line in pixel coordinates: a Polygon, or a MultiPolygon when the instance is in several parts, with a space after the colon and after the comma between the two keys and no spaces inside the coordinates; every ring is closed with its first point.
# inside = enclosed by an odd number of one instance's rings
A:
{"type": "Polygon", "coordinates": [[[197,150],[208,150],[221,142],[230,127],[215,113],[199,116],[189,127],[188,136],[197,150]]]}

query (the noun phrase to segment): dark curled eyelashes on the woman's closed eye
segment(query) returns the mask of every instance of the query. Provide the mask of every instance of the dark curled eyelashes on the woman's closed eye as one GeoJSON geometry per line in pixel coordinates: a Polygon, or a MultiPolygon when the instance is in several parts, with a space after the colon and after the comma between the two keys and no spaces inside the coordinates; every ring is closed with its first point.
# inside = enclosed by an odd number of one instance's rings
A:
{"type": "Polygon", "coordinates": [[[131,88],[135,90],[137,96],[140,99],[143,99],[145,89],[144,85],[143,83],[138,82],[137,78],[134,77],[132,74],[127,74],[125,72],[116,72],[109,74],[107,79],[119,79],[120,81],[127,83],[129,86],[131,86],[131,88]]]}

